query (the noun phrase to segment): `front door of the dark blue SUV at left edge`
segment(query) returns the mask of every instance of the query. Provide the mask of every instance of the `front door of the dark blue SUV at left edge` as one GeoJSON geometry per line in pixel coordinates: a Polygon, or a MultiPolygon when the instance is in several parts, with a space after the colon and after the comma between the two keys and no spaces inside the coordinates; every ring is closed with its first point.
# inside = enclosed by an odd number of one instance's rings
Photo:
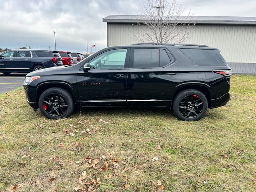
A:
{"type": "Polygon", "coordinates": [[[1,72],[14,72],[14,51],[7,51],[1,55],[0,58],[0,71],[1,72]]]}

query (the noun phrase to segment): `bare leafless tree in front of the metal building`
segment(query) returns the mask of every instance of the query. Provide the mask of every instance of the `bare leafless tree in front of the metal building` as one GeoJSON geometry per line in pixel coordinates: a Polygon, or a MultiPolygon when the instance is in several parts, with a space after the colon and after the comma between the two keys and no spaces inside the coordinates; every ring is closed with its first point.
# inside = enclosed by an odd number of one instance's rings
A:
{"type": "Polygon", "coordinates": [[[141,2],[142,15],[137,16],[134,40],[144,43],[182,43],[190,36],[195,23],[190,12],[173,0],[145,0],[141,2]]]}

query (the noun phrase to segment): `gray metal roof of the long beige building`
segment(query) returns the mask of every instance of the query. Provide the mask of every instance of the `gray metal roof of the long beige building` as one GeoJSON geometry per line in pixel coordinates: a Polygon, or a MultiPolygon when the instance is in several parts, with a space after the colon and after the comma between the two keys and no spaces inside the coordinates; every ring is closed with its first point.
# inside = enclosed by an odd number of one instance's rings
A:
{"type": "MultiPolygon", "coordinates": [[[[141,15],[109,15],[103,18],[103,22],[110,23],[137,23],[144,20],[150,21],[148,16],[141,15]]],[[[172,20],[172,19],[170,19],[172,20]]],[[[196,24],[232,24],[232,25],[256,25],[256,17],[234,17],[234,16],[178,16],[175,18],[178,22],[196,23],[196,24]]]]}

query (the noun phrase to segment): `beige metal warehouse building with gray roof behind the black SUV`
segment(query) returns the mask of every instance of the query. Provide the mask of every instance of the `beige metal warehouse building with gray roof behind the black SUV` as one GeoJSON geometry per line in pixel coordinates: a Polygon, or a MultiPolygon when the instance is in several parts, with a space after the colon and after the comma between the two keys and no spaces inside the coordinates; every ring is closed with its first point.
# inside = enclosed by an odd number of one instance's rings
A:
{"type": "MultiPolygon", "coordinates": [[[[134,40],[140,16],[110,15],[107,22],[107,45],[129,45],[134,40]]],[[[219,48],[234,73],[256,74],[256,17],[192,16],[196,23],[186,44],[205,44],[219,48]]]]}

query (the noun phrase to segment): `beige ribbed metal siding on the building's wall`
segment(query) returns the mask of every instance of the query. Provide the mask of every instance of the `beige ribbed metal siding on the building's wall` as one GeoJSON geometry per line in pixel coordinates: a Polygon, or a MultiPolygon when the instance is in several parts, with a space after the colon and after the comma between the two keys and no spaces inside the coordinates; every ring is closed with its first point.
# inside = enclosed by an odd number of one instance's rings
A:
{"type": "MultiPolygon", "coordinates": [[[[108,23],[108,46],[136,43],[135,27],[135,24],[108,23]]],[[[256,63],[256,26],[196,25],[184,43],[219,48],[230,63],[256,63]]]]}

